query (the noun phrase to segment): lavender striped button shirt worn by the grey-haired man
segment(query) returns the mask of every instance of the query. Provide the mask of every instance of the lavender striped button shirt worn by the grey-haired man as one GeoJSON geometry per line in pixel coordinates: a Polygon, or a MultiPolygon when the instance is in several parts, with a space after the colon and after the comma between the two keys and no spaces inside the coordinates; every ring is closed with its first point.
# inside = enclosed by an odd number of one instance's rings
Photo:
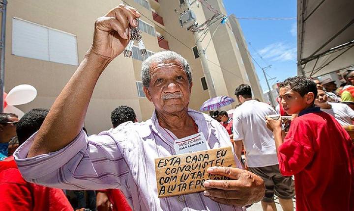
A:
{"type": "MultiPolygon", "coordinates": [[[[210,116],[188,114],[203,132],[209,149],[232,146],[226,130],[210,116]]],[[[169,131],[177,139],[177,137],[169,131]]],[[[29,182],[62,189],[119,188],[135,211],[242,211],[216,203],[203,192],[184,197],[157,197],[154,158],[175,155],[174,140],[164,131],[155,112],[146,122],[127,122],[98,135],[80,134],[63,149],[26,158],[35,134],[14,153],[18,168],[29,182]]],[[[236,165],[241,168],[235,156],[236,165]]]]}

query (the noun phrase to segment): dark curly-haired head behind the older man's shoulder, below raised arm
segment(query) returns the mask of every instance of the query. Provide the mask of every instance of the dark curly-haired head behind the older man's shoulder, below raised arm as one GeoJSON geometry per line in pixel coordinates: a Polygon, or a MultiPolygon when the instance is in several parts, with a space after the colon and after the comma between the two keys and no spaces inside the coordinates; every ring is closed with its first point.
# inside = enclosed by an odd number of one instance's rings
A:
{"type": "Polygon", "coordinates": [[[135,122],[135,118],[135,112],[133,108],[129,106],[119,106],[115,108],[111,113],[111,121],[114,128],[124,122],[135,122]]]}

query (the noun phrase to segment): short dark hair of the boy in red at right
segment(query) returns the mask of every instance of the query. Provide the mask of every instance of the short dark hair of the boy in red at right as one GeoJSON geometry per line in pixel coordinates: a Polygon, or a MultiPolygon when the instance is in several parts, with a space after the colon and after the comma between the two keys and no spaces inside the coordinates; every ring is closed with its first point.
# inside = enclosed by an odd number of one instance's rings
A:
{"type": "Polygon", "coordinates": [[[309,92],[313,92],[315,97],[317,97],[317,86],[316,83],[309,78],[304,76],[295,76],[285,79],[283,82],[279,83],[279,88],[289,86],[293,91],[300,94],[301,97],[309,92]]]}

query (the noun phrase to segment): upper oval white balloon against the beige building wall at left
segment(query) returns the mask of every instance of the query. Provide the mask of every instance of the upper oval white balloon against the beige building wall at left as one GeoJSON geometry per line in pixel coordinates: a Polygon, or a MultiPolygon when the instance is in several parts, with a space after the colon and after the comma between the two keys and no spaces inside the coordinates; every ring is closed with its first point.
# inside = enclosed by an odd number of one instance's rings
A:
{"type": "Polygon", "coordinates": [[[27,104],[37,96],[37,90],[29,84],[15,86],[7,93],[7,105],[17,106],[27,104]]]}

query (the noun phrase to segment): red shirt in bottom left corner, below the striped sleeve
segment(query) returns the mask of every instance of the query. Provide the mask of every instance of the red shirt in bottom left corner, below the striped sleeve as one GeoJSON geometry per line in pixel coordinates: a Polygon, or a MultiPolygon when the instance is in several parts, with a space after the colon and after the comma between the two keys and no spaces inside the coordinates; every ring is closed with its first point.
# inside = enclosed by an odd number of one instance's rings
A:
{"type": "Polygon", "coordinates": [[[0,161],[0,211],[73,211],[58,188],[28,183],[13,157],[0,161]]]}

